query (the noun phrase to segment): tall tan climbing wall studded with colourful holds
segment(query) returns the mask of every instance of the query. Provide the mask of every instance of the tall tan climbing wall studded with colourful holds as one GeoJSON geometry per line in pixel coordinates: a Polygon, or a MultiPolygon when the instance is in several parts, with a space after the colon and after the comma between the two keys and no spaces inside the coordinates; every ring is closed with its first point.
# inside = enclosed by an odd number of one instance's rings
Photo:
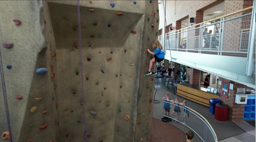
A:
{"type": "Polygon", "coordinates": [[[0,41],[10,117],[0,118],[1,134],[10,124],[15,142],[149,141],[154,76],[144,72],[157,39],[157,1],[80,1],[81,50],[77,1],[0,3],[9,21],[1,22],[0,41]]]}

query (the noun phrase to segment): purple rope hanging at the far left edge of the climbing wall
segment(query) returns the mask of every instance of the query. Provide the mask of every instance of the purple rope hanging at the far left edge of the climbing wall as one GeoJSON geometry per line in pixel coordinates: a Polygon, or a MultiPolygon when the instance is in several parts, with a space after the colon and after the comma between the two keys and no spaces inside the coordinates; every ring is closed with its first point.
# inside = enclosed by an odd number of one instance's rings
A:
{"type": "Polygon", "coordinates": [[[1,80],[2,80],[3,99],[4,99],[5,109],[6,109],[7,124],[8,124],[9,133],[10,133],[10,140],[12,142],[11,123],[10,123],[10,117],[9,117],[8,102],[6,97],[6,86],[5,86],[5,80],[3,75],[3,61],[2,61],[1,50],[0,50],[0,73],[1,73],[1,80]]]}

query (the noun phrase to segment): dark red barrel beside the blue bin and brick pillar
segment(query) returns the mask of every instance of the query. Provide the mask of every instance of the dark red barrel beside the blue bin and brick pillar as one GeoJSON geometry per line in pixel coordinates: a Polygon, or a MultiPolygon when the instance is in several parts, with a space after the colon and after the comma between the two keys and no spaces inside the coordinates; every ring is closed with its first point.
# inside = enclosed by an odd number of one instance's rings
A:
{"type": "Polygon", "coordinates": [[[219,121],[227,121],[228,106],[223,103],[216,103],[214,118],[219,121]]]}

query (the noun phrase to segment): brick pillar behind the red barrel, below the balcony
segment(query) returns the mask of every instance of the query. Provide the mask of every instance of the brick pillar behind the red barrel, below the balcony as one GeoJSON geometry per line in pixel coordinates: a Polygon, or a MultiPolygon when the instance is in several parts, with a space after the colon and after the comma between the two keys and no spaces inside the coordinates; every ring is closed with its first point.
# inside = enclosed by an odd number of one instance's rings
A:
{"type": "MultiPolygon", "coordinates": [[[[220,81],[223,78],[219,78],[220,81]]],[[[224,79],[225,81],[229,81],[224,79]]],[[[236,99],[236,88],[247,88],[247,86],[239,83],[234,84],[234,90],[228,90],[228,97],[220,96],[220,100],[222,103],[226,104],[229,109],[229,116],[228,119],[231,121],[242,121],[244,118],[244,104],[237,104],[235,103],[236,99]]]]}

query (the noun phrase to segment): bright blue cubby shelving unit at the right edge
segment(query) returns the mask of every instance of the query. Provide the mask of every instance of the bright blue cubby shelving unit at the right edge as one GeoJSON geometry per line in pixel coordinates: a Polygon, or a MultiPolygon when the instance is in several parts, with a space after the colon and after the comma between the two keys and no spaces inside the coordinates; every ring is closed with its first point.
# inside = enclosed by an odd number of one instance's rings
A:
{"type": "Polygon", "coordinates": [[[255,95],[247,96],[247,104],[244,105],[244,120],[255,120],[255,95]]]}

